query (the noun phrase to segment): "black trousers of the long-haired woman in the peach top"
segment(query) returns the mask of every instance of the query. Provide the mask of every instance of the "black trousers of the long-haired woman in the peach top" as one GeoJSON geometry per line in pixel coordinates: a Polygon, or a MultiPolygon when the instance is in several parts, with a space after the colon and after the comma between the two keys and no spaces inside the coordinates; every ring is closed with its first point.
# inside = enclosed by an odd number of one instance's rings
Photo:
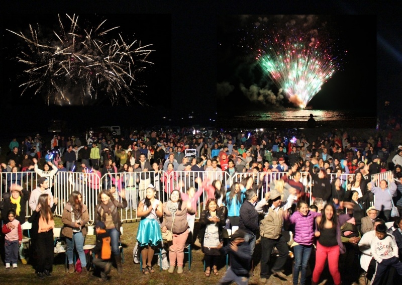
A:
{"type": "Polygon", "coordinates": [[[54,259],[53,230],[38,233],[36,249],[38,253],[36,272],[51,271],[54,259]]]}

